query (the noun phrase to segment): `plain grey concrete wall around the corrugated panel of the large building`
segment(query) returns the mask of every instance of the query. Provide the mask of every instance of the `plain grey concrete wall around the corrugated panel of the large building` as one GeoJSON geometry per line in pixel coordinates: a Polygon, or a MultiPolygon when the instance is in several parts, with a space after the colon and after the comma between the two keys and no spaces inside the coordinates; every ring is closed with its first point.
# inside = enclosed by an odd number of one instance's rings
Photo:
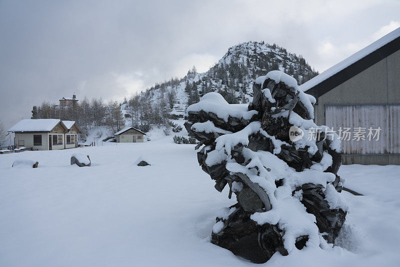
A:
{"type": "MultiPolygon", "coordinates": [[[[400,50],[319,96],[318,125],[325,125],[326,104],[400,104],[400,50]]],[[[343,163],[400,164],[400,155],[343,156],[343,163]]]]}

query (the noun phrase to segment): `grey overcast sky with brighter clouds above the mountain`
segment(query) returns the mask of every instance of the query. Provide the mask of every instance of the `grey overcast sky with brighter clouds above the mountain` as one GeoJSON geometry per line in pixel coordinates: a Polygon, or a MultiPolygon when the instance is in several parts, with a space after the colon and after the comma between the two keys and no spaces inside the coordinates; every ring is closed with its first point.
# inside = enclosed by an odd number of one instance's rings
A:
{"type": "Polygon", "coordinates": [[[0,120],[73,92],[119,100],[248,40],[323,71],[399,26],[399,0],[0,0],[0,120]]]}

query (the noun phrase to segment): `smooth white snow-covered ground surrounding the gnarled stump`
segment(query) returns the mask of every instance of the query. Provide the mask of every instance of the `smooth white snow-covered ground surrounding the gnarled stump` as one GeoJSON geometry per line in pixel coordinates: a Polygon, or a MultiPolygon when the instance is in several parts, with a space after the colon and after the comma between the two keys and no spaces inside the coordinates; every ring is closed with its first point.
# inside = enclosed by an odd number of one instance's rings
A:
{"type": "MultiPolygon", "coordinates": [[[[180,134],[180,133],[178,133],[180,134]]],[[[248,266],[209,242],[235,201],[198,166],[194,145],[151,141],[0,155],[0,266],[248,266]],[[72,153],[91,167],[69,165],[72,153]],[[151,166],[133,162],[143,155],[151,166]],[[38,168],[12,168],[15,159],[38,168]]],[[[333,248],[275,253],[265,266],[397,266],[400,166],[341,166],[349,213],[333,248]]]]}

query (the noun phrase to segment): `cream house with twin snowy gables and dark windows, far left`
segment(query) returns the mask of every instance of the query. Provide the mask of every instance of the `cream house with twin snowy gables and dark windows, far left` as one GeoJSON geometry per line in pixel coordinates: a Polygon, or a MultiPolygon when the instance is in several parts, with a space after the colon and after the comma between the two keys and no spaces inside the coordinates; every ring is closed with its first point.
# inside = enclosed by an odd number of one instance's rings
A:
{"type": "Polygon", "coordinates": [[[60,119],[22,119],[8,129],[14,133],[17,147],[33,150],[56,150],[77,147],[79,128],[74,121],[60,119]]]}

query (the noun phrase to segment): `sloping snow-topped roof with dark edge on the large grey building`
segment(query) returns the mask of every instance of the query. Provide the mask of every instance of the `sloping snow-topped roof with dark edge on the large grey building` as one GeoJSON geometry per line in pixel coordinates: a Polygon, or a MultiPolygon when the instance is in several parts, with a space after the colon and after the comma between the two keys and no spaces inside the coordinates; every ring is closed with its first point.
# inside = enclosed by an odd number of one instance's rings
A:
{"type": "Polygon", "coordinates": [[[299,86],[316,97],[400,49],[400,27],[299,86]]]}

